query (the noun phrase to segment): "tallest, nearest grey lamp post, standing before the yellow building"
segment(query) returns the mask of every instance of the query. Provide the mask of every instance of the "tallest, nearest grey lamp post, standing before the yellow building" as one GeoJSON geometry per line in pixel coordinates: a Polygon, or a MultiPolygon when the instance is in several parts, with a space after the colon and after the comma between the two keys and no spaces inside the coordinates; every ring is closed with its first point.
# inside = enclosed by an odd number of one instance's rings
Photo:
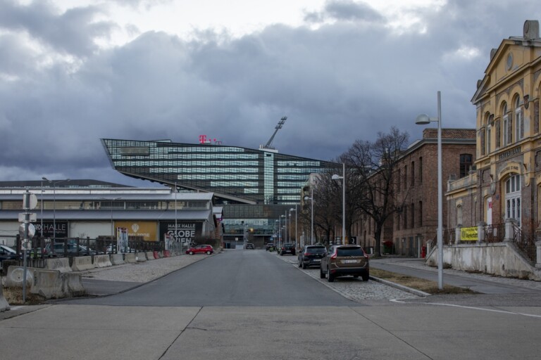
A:
{"type": "Polygon", "coordinates": [[[442,191],[442,98],[437,91],[437,117],[419,115],[415,123],[426,125],[437,122],[437,287],[443,289],[443,191],[442,191]]]}

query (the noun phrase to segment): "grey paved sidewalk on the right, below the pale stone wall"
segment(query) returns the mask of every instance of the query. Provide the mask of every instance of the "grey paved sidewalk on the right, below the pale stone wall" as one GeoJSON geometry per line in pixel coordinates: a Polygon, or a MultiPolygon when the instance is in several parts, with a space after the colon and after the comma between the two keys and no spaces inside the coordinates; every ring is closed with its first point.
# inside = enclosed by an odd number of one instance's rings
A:
{"type": "MultiPolygon", "coordinates": [[[[401,257],[371,259],[370,266],[375,269],[437,282],[437,268],[425,265],[425,259],[401,257]]],[[[481,294],[541,293],[540,281],[502,278],[490,274],[468,273],[454,269],[443,269],[443,283],[460,288],[470,288],[481,294]]]]}

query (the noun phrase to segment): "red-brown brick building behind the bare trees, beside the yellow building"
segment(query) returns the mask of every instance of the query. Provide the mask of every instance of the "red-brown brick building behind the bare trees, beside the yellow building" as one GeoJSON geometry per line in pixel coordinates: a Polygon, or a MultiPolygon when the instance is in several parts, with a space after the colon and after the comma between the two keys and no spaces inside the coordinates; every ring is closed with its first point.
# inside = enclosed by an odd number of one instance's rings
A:
{"type": "MultiPolygon", "coordinates": [[[[468,178],[474,162],[475,129],[442,129],[443,181],[468,178]]],[[[400,210],[385,223],[381,245],[390,241],[394,254],[418,257],[426,241],[436,238],[437,129],[425,129],[423,139],[409,146],[394,176],[394,197],[400,210]]],[[[444,207],[444,230],[448,213],[444,207]]],[[[367,218],[353,229],[365,248],[375,246],[372,222],[367,218]]]]}

